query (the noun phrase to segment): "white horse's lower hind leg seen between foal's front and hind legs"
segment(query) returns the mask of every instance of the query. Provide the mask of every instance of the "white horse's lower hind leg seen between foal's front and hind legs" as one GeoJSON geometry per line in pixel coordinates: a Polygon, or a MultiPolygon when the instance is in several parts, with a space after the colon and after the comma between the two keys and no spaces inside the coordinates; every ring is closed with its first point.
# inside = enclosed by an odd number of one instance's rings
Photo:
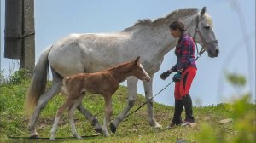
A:
{"type": "Polygon", "coordinates": [[[102,134],[101,123],[99,123],[98,119],[96,117],[94,117],[87,109],[84,108],[82,103],[79,104],[78,110],[79,110],[79,112],[81,112],[84,115],[84,117],[86,117],[90,121],[91,125],[94,126],[95,131],[97,133],[102,134]]]}

